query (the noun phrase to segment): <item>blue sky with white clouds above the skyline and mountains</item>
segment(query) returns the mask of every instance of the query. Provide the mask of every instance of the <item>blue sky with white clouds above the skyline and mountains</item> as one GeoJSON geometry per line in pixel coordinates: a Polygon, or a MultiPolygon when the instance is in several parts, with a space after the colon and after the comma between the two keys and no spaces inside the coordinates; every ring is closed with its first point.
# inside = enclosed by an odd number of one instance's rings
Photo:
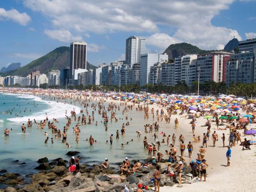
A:
{"type": "Polygon", "coordinates": [[[126,39],[146,38],[148,53],[174,43],[223,49],[256,38],[256,0],[1,0],[0,68],[21,65],[72,41],[88,44],[96,66],[124,60],[126,39]]]}

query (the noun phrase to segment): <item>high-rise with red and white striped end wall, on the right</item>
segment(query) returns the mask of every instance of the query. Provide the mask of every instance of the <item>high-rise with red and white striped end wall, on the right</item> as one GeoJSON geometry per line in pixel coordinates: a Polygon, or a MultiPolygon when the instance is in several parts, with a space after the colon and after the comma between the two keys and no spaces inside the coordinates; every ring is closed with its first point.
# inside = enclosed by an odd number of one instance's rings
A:
{"type": "Polygon", "coordinates": [[[212,52],[197,55],[197,68],[200,70],[200,83],[215,81],[216,83],[225,82],[226,63],[230,59],[231,53],[212,52]]]}

